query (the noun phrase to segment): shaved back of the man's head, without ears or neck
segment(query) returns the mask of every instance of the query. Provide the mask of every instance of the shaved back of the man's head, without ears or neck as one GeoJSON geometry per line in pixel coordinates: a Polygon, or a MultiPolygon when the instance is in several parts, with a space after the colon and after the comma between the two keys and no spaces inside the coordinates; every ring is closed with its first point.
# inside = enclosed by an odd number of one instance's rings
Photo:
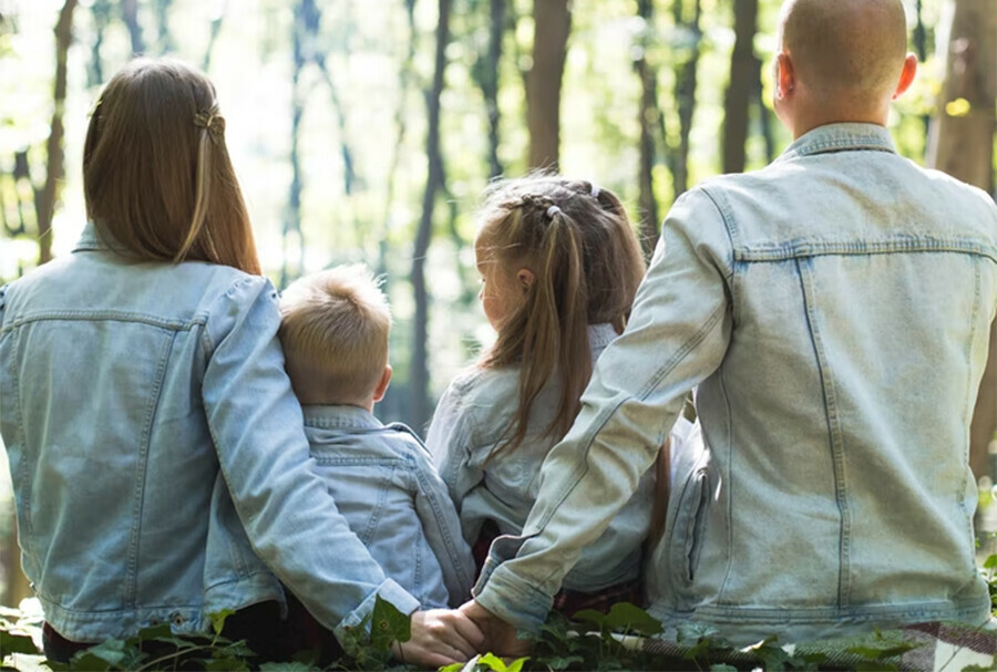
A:
{"type": "Polygon", "coordinates": [[[880,104],[904,65],[901,0],[787,0],[780,44],[796,77],[829,105],[880,104]]]}

